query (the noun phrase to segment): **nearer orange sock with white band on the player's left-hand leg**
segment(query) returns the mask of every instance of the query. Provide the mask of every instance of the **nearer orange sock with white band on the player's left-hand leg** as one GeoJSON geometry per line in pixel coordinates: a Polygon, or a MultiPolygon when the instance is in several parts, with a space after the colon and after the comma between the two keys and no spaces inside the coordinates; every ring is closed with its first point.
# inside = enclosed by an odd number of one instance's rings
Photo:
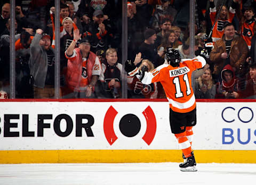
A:
{"type": "Polygon", "coordinates": [[[177,138],[179,147],[182,150],[185,157],[190,157],[192,150],[191,150],[191,144],[188,141],[188,138],[186,136],[186,132],[182,132],[182,133],[174,134],[174,135],[177,138]]]}

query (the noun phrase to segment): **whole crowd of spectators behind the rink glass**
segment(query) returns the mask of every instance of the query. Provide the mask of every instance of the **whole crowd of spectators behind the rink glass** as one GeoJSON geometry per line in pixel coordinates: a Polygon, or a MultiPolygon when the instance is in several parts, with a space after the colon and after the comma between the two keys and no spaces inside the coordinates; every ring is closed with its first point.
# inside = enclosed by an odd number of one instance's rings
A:
{"type": "MultiPolygon", "coordinates": [[[[61,98],[165,98],[159,83],[145,85],[127,77],[122,63],[122,1],[18,1],[15,6],[15,97],[54,98],[54,17],[60,14],[61,98]],[[124,78],[126,78],[124,80],[124,78]],[[127,82],[127,84],[123,84],[127,82]]],[[[195,0],[195,25],[187,0],[127,2],[127,60],[148,71],[161,66],[166,47],[181,59],[198,55],[213,42],[207,65],[194,73],[197,99],[241,99],[256,95],[256,24],[254,0],[195,0]],[[195,27],[194,38],[189,37],[195,27]],[[210,36],[209,36],[210,34],[210,36]],[[207,37],[208,36],[208,37],[207,37]]],[[[10,1],[1,4],[0,97],[10,85],[10,1]]]]}

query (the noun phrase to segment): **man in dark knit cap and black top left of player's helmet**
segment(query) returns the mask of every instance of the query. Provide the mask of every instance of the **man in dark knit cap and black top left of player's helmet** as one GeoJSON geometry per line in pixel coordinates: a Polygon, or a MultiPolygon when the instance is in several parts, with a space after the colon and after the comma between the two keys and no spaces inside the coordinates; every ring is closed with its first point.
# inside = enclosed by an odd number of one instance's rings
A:
{"type": "Polygon", "coordinates": [[[141,58],[151,60],[154,67],[162,65],[164,62],[162,59],[164,50],[157,51],[157,47],[155,46],[156,31],[151,28],[146,29],[144,31],[144,38],[144,42],[139,46],[141,58]]]}

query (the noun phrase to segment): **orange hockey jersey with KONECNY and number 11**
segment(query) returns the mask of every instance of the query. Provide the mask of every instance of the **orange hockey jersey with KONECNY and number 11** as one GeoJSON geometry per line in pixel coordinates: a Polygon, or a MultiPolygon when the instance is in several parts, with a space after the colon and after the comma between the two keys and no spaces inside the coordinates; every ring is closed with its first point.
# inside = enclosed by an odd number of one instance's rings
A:
{"type": "Polygon", "coordinates": [[[191,86],[191,75],[196,69],[204,67],[206,61],[197,56],[182,59],[179,67],[161,65],[150,73],[145,72],[143,84],[161,82],[170,108],[175,112],[189,112],[196,108],[195,95],[191,86]]]}

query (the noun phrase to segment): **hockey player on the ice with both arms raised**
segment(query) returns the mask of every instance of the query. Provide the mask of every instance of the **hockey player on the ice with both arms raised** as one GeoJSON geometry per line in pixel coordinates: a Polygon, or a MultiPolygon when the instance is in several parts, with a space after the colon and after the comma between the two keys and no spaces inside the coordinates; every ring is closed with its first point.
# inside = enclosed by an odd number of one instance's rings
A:
{"type": "MultiPolygon", "coordinates": [[[[137,54],[135,60],[141,57],[137,54]]],[[[181,171],[197,171],[194,153],[191,150],[193,139],[192,127],[196,125],[196,100],[191,86],[192,72],[206,64],[207,51],[194,59],[180,59],[178,50],[167,47],[165,63],[155,70],[139,70],[131,61],[125,62],[128,75],[141,80],[143,84],[160,82],[163,85],[167,100],[170,104],[171,131],[178,140],[179,147],[185,156],[184,163],[180,164],[181,171]]]]}

